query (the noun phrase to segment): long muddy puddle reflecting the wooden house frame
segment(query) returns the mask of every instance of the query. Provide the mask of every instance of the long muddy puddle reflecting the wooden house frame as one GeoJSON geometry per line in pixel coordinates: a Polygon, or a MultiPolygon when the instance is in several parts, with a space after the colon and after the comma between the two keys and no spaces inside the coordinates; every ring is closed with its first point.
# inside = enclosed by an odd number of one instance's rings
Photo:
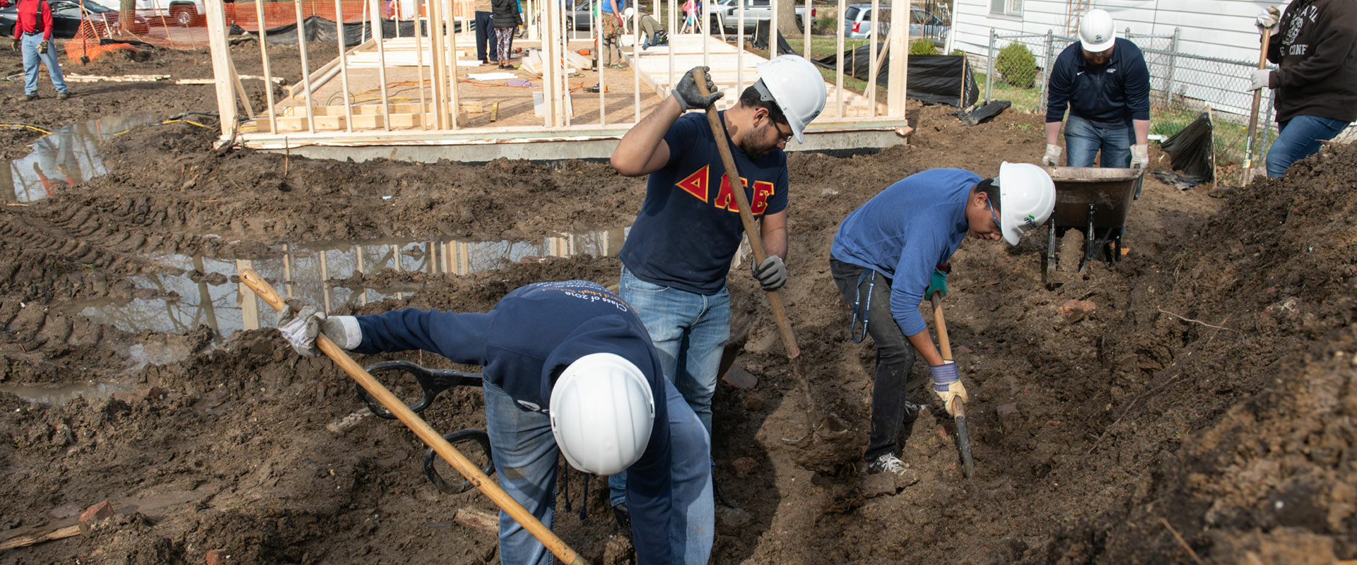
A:
{"type": "MultiPolygon", "coordinates": [[[[273,308],[229,279],[252,268],[286,298],[335,312],[388,298],[404,298],[400,289],[339,285],[357,274],[383,270],[451,272],[465,275],[503,267],[529,257],[569,257],[581,253],[616,255],[630,228],[563,233],[537,241],[408,241],[327,243],[284,245],[280,256],[267,259],[220,260],[202,256],[170,255],[156,261],[183,270],[182,274],[133,276],[137,289],[155,290],[157,298],[128,301],[84,301],[62,306],[92,321],[125,332],[189,332],[206,324],[218,336],[237,329],[256,329],[277,322],[273,308]],[[191,272],[202,275],[190,276],[191,272]],[[244,290],[243,290],[244,289],[244,290]],[[243,290],[243,291],[242,291],[243,290]]],[[[149,351],[138,362],[164,363],[149,351]]]]}

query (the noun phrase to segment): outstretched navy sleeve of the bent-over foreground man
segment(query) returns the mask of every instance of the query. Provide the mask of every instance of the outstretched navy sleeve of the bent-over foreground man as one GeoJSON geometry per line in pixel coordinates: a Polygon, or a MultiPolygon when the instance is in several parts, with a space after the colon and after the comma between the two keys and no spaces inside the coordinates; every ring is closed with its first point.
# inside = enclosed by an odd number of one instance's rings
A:
{"type": "Polygon", "coordinates": [[[357,318],[362,341],[353,351],[360,354],[423,350],[453,363],[486,364],[490,314],[404,309],[357,318]]]}

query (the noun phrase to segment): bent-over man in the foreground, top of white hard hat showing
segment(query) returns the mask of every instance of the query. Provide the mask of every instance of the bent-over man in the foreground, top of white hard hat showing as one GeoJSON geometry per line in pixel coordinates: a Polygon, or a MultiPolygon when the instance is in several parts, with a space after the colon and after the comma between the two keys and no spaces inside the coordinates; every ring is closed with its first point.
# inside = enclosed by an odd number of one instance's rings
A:
{"type": "MultiPolygon", "coordinates": [[[[551,527],[558,450],[584,472],[626,469],[638,562],[707,562],[714,531],[707,430],[665,378],[641,318],[604,287],[528,285],[487,313],[406,309],[327,318],[309,308],[296,317],[285,310],[280,331],[304,355],[319,354],[315,339],[323,332],[361,354],[423,350],[484,367],[486,430],[499,486],[514,500],[551,527]]],[[[506,565],[551,561],[505,512],[499,556],[506,565]]]]}

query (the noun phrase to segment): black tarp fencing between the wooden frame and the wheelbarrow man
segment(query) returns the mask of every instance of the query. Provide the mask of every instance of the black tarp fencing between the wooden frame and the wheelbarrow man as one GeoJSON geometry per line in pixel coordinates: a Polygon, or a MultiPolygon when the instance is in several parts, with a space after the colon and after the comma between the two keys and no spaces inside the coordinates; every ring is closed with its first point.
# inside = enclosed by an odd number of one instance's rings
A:
{"type": "MultiPolygon", "coordinates": [[[[877,54],[885,49],[885,43],[877,43],[877,54]]],[[[844,72],[855,79],[867,80],[871,68],[871,46],[863,45],[858,49],[844,51],[844,72]]],[[[963,108],[980,98],[980,87],[976,85],[976,75],[970,65],[965,65],[966,76],[961,76],[965,57],[962,56],[909,56],[909,65],[905,72],[908,81],[905,98],[920,100],[925,104],[951,104],[963,108]],[[966,95],[962,98],[961,84],[966,83],[966,95]]],[[[814,61],[826,69],[837,65],[837,56],[829,56],[814,61]]],[[[877,72],[877,84],[886,85],[890,75],[890,54],[881,64],[877,72]]]]}

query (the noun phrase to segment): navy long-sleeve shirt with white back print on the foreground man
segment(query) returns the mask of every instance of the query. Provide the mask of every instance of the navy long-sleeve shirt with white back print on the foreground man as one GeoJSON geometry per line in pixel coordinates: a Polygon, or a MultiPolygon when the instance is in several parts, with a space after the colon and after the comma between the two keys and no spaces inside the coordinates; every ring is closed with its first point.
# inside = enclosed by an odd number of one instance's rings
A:
{"type": "Polygon", "coordinates": [[[551,388],[575,359],[609,352],[635,363],[650,382],[655,421],[646,451],[627,467],[631,534],[639,562],[669,562],[669,514],[683,509],[670,508],[665,377],[650,333],[622,298],[588,280],[544,282],[509,293],[487,313],[406,309],[357,318],[362,343],[354,351],[423,350],[479,364],[486,382],[529,412],[550,412],[551,388]]]}

